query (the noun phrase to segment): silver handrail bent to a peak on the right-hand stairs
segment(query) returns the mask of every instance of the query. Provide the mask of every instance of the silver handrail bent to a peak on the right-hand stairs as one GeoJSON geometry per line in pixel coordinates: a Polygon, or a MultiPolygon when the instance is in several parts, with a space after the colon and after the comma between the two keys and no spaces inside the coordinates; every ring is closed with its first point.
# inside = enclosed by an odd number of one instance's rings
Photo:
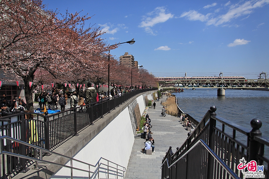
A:
{"type": "MultiPolygon", "coordinates": [[[[182,155],[180,158],[178,158],[178,160],[176,160],[174,163],[172,163],[170,166],[169,166],[169,163],[168,163],[168,159],[166,158],[166,162],[167,162],[167,166],[168,168],[171,168],[175,163],[177,163],[179,160],[181,160],[185,155],[187,155],[194,147],[196,147],[198,144],[202,144],[205,149],[207,149],[207,151],[218,161],[218,163],[226,170],[226,172],[229,173],[229,175],[234,178],[234,179],[239,179],[239,177],[233,172],[233,170],[230,169],[229,166],[226,165],[226,163],[224,163],[222,161],[221,158],[219,158],[218,155],[215,154],[215,152],[210,149],[210,147],[202,140],[200,139],[199,141],[197,141],[187,152],[184,153],[184,155],[182,155]]],[[[185,159],[185,158],[184,158],[185,159]]],[[[186,160],[186,159],[185,159],[186,160]]],[[[165,161],[163,161],[163,163],[165,163],[165,161]]],[[[163,166],[163,163],[162,163],[162,166],[163,166]]],[[[162,166],[160,168],[162,168],[162,166]]]]}

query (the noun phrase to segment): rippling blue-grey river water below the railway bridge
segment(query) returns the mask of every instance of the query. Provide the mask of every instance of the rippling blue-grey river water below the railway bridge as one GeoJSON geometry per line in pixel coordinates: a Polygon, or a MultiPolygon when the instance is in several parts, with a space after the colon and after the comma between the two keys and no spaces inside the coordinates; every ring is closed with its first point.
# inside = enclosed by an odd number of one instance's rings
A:
{"type": "MultiPolygon", "coordinates": [[[[269,137],[269,91],[227,89],[225,96],[217,96],[217,89],[185,89],[184,92],[173,94],[178,99],[180,109],[197,121],[201,121],[210,106],[215,105],[218,116],[242,125],[249,131],[252,129],[250,121],[253,118],[261,120],[262,135],[269,137]]],[[[246,143],[240,135],[237,139],[246,143]]],[[[268,147],[265,148],[265,155],[268,156],[266,153],[269,154],[268,147]]]]}

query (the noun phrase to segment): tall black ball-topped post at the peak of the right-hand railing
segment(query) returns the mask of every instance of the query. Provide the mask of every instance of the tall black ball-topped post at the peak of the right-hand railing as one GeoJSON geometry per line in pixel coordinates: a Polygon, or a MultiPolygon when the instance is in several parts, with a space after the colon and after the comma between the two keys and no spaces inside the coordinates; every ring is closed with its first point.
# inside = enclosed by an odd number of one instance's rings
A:
{"type": "MultiPolygon", "coordinates": [[[[212,117],[216,116],[215,111],[217,108],[215,106],[210,107],[210,119],[209,119],[209,138],[208,138],[208,146],[215,151],[215,142],[214,142],[214,129],[213,127],[216,126],[216,120],[212,117]]],[[[214,169],[214,158],[212,156],[208,156],[208,168],[207,168],[207,178],[213,178],[213,169],[214,169]]]]}

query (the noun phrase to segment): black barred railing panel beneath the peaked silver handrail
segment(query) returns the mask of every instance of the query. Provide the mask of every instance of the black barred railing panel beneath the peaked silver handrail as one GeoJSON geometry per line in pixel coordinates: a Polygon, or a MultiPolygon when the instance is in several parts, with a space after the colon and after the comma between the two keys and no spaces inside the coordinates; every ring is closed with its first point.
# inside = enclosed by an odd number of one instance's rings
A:
{"type": "MultiPolygon", "coordinates": [[[[173,155],[172,147],[169,149],[169,155],[173,155]]],[[[169,172],[175,173],[176,168],[186,169],[185,176],[181,176],[181,178],[203,178],[207,172],[207,157],[211,155],[214,158],[215,168],[214,168],[214,178],[233,178],[239,179],[239,177],[227,166],[226,163],[219,158],[215,152],[210,149],[210,147],[200,139],[197,141],[187,152],[184,153],[179,158],[173,158],[173,160],[168,161],[168,158],[163,161],[161,169],[162,169],[162,178],[169,178],[169,172]],[[205,150],[204,150],[205,149],[205,150]],[[200,152],[202,151],[202,152],[200,152]],[[187,162],[188,160],[188,162],[187,162]],[[173,163],[172,163],[173,162],[173,163]],[[172,163],[169,165],[169,163],[172,163]],[[195,164],[194,164],[195,163],[195,164]],[[192,166],[192,167],[190,167],[192,166]],[[170,170],[169,170],[170,169],[170,170]]],[[[175,176],[177,178],[177,176],[175,176]]]]}

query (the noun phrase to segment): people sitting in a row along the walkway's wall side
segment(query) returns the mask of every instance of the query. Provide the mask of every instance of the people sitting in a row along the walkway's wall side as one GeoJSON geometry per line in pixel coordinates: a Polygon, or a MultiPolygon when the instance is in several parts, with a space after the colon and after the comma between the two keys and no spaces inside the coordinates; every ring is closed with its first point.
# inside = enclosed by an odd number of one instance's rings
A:
{"type": "Polygon", "coordinates": [[[154,150],[154,139],[152,137],[152,132],[151,132],[151,128],[152,128],[152,125],[151,125],[151,120],[149,118],[149,115],[146,114],[146,122],[144,123],[144,129],[143,129],[143,137],[144,139],[146,139],[146,142],[145,142],[145,147],[142,148],[142,152],[144,152],[145,150],[149,150],[151,147],[152,147],[152,152],[155,152],[154,150]]]}

